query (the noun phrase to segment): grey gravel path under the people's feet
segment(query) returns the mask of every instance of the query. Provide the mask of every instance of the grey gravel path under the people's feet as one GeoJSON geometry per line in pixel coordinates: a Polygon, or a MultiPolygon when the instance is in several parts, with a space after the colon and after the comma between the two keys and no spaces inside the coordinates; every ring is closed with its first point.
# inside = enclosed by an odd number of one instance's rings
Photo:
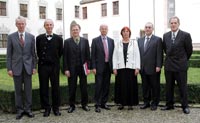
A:
{"type": "Polygon", "coordinates": [[[15,120],[15,114],[3,113],[0,111],[0,123],[199,123],[200,108],[192,106],[191,113],[186,115],[180,107],[175,110],[156,111],[150,109],[141,110],[139,106],[135,106],[132,111],[117,110],[117,106],[111,104],[111,110],[101,110],[101,113],[94,111],[93,104],[89,105],[90,111],[83,111],[80,106],[76,108],[74,113],[67,113],[67,107],[61,108],[62,115],[54,116],[52,113],[49,117],[43,117],[42,111],[34,111],[35,117],[28,118],[24,116],[21,120],[15,120]]]}

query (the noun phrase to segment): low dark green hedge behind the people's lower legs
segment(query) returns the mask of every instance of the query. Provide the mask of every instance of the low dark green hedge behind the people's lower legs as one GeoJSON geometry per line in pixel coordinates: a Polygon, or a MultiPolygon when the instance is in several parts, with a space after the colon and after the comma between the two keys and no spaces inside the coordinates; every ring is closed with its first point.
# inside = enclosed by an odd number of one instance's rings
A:
{"type": "MultiPolygon", "coordinates": [[[[165,84],[161,84],[161,91],[160,91],[160,100],[165,101],[165,84]]],[[[142,101],[142,89],[141,84],[138,84],[138,91],[139,91],[139,100],[142,101]]],[[[61,86],[61,105],[68,104],[68,86],[61,86]]],[[[50,93],[51,94],[51,93],[50,93]]],[[[94,83],[88,85],[88,94],[89,94],[89,103],[94,103],[94,83]]],[[[190,104],[199,104],[200,103],[200,84],[189,84],[188,85],[188,100],[190,104]]],[[[80,89],[77,88],[77,95],[76,100],[77,104],[80,104],[80,89]]],[[[114,83],[111,83],[110,87],[110,96],[109,102],[113,102],[114,100],[114,83]]],[[[179,99],[179,91],[178,88],[175,86],[175,101],[180,103],[179,99]]],[[[14,99],[14,91],[3,91],[0,90],[0,109],[4,112],[15,112],[15,99],[14,99]]],[[[50,97],[51,102],[51,97],[50,97]]],[[[33,90],[33,110],[40,109],[40,96],[39,96],[39,89],[33,90]]]]}

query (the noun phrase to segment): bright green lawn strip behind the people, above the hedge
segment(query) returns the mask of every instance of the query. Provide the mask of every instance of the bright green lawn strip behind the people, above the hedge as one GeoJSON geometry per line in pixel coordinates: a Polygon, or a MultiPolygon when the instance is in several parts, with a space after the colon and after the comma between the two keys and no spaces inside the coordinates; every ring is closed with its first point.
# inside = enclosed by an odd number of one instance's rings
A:
{"type": "MultiPolygon", "coordinates": [[[[6,69],[0,69],[0,89],[1,90],[14,90],[13,88],[13,79],[8,76],[7,70],[6,69]]],[[[161,75],[161,83],[165,83],[164,75],[161,75]]],[[[112,75],[112,82],[114,82],[114,75],[112,75]]],[[[38,74],[33,75],[33,88],[38,88],[39,87],[39,82],[38,82],[38,74]]],[[[141,82],[140,76],[138,76],[139,82],[141,82]]],[[[88,83],[93,83],[94,82],[94,75],[90,74],[88,76],[88,83]]],[[[60,74],[60,83],[61,85],[67,85],[67,78],[63,75],[60,74]]],[[[189,68],[188,71],[188,83],[189,84],[195,84],[198,83],[200,84],[200,68],[189,68]]]]}

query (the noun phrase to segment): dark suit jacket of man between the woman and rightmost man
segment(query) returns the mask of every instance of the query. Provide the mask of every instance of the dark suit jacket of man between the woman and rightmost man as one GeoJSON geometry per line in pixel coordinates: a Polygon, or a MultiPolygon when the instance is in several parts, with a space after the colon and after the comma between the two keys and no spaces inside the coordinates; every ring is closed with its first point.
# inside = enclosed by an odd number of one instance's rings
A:
{"type": "Polygon", "coordinates": [[[144,42],[145,37],[138,39],[141,58],[141,72],[145,71],[146,74],[155,74],[156,67],[162,67],[162,39],[152,35],[146,51],[144,51],[144,42]]]}

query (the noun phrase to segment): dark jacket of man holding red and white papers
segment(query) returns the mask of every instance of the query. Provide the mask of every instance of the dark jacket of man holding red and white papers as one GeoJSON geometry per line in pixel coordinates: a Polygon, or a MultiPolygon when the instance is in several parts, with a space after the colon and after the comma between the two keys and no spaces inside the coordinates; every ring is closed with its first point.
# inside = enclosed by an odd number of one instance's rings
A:
{"type": "MultiPolygon", "coordinates": [[[[81,55],[81,64],[84,63],[88,64],[88,68],[90,68],[90,47],[89,42],[87,39],[80,37],[80,55],[81,55]]],[[[68,38],[64,42],[64,52],[63,52],[63,69],[64,71],[73,69],[75,67],[75,58],[74,58],[74,52],[77,50],[76,47],[73,47],[75,44],[74,39],[68,38]]]]}

